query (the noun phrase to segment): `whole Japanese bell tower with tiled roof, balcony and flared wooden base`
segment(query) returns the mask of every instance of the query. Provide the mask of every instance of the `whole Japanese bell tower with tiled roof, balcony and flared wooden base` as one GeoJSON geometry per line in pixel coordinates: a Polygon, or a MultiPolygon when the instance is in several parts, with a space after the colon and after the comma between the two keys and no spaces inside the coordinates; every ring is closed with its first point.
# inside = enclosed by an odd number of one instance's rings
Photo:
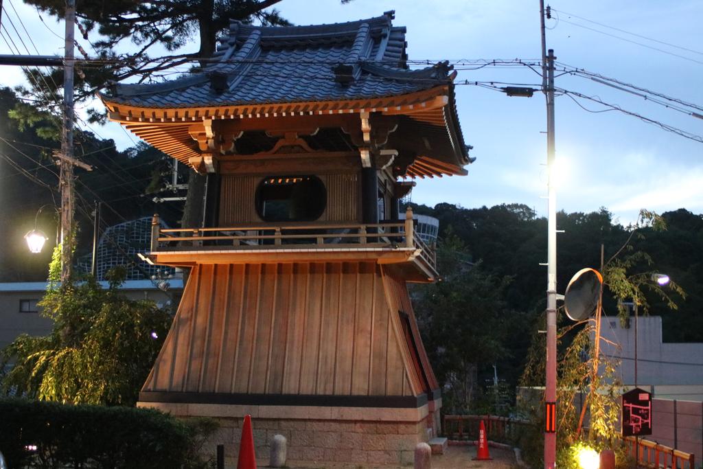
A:
{"type": "Polygon", "coordinates": [[[191,274],[140,406],[217,418],[223,441],[250,414],[259,449],[280,433],[304,461],[404,463],[437,435],[406,288],[437,278],[434,247],[399,200],[470,158],[456,74],[411,70],[392,19],[233,22],[202,72],[101,95],[207,174],[204,224],[154,219],[150,258],[191,274]]]}

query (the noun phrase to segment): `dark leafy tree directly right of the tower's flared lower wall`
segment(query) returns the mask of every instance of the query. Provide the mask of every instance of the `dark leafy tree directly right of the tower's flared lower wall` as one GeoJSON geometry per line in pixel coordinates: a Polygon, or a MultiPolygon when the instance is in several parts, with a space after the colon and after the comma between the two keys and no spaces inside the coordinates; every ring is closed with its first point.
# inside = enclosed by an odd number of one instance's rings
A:
{"type": "Polygon", "coordinates": [[[413,290],[423,343],[450,413],[475,406],[479,370],[510,353],[506,336],[510,322],[519,319],[503,300],[510,278],[489,274],[467,258],[463,243],[449,233],[438,248],[442,280],[413,290]]]}

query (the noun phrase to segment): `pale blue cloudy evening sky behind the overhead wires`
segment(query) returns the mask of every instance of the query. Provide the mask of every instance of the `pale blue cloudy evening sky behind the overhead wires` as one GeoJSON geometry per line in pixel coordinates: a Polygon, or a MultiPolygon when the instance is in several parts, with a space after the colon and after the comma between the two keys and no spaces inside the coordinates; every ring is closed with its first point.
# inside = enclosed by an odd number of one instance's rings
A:
{"type": "MultiPolygon", "coordinates": [[[[702,1],[555,0],[549,4],[554,11],[553,19],[546,22],[546,42],[548,49],[554,49],[557,63],[703,108],[702,1]]],[[[283,0],[276,8],[296,25],[340,23],[395,10],[394,25],[407,27],[411,60],[456,63],[520,58],[534,62],[541,57],[538,0],[354,0],[348,4],[283,0]]],[[[43,15],[42,24],[37,11],[20,0],[6,0],[4,9],[4,28],[8,27],[6,18],[18,23],[16,10],[41,55],[63,54],[63,42],[56,36],[63,36],[63,23],[43,15]]],[[[2,40],[0,53],[8,53],[2,40]]],[[[463,207],[522,203],[546,215],[543,94],[510,98],[465,84],[516,83],[537,88],[541,77],[524,66],[456,68],[460,124],[465,141],[474,147],[471,155],[476,161],[467,167],[467,176],[418,179],[413,202],[463,207]]],[[[16,68],[2,70],[1,84],[20,82],[16,68]]],[[[703,119],[588,78],[561,75],[560,65],[555,86],[703,136],[703,119]]],[[[684,207],[703,213],[703,143],[618,111],[594,112],[605,109],[572,94],[560,94],[555,100],[555,148],[563,169],[557,209],[592,212],[606,207],[623,224],[635,221],[641,208],[662,213],[684,207]]],[[[94,130],[115,139],[119,148],[133,143],[116,124],[94,130]]]]}

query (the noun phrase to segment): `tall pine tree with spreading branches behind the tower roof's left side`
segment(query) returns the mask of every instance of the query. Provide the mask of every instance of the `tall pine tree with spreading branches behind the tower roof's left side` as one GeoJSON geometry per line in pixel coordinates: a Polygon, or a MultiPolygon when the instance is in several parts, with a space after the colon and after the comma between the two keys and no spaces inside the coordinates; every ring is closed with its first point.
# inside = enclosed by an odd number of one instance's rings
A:
{"type": "MultiPolygon", "coordinates": [[[[75,80],[76,99],[91,98],[96,91],[110,82],[121,82],[133,77],[138,82],[165,79],[179,65],[196,62],[200,68],[207,65],[217,46],[217,36],[228,30],[230,20],[251,23],[258,20],[264,25],[287,25],[275,9],[266,11],[281,0],[115,0],[76,1],[76,17],[84,41],[97,32],[100,39],[91,43],[94,51],[88,54],[79,48],[90,65],[79,68],[75,80]],[[198,38],[198,50],[181,52],[198,38]],[[129,52],[117,52],[119,45],[131,42],[136,46],[129,52]],[[150,56],[150,52],[165,49],[167,54],[150,56]]],[[[25,0],[40,11],[59,18],[65,14],[64,0],[25,0]]],[[[197,67],[196,67],[197,69],[197,67]]],[[[21,89],[23,96],[39,103],[40,110],[57,115],[60,113],[60,85],[63,68],[50,72],[39,69],[27,71],[29,89],[21,89]]],[[[31,123],[32,106],[20,103],[14,116],[20,122],[31,123]]],[[[105,113],[89,110],[91,122],[104,122],[105,113]]],[[[60,120],[49,122],[41,129],[44,134],[58,137],[60,120]]],[[[183,209],[183,226],[197,226],[202,219],[202,198],[205,196],[205,176],[190,172],[188,195],[183,209]]]]}

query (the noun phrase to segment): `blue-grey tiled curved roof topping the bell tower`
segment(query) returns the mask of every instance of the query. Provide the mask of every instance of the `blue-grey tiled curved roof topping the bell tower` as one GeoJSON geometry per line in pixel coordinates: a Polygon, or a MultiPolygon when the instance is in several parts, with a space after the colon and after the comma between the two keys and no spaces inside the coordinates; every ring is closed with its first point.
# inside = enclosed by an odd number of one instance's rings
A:
{"type": "Polygon", "coordinates": [[[392,19],[387,12],[333,25],[259,27],[233,21],[203,72],[160,84],[118,84],[103,98],[137,107],[187,108],[378,98],[448,83],[444,63],[408,69],[406,30],[394,27],[392,19]]]}

